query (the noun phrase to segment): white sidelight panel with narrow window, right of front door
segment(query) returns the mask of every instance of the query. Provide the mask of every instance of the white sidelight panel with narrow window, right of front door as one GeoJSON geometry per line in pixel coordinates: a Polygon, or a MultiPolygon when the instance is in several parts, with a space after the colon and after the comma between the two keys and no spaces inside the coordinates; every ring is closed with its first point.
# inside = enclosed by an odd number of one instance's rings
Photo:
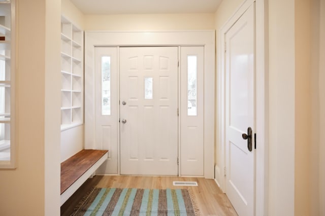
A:
{"type": "Polygon", "coordinates": [[[204,175],[204,47],[181,48],[181,175],[204,175]]]}

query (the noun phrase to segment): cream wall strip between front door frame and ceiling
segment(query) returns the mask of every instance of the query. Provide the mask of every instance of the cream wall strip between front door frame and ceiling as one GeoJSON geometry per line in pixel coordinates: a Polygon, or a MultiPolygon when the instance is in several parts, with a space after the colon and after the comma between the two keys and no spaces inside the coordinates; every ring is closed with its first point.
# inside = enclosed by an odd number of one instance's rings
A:
{"type": "Polygon", "coordinates": [[[214,29],[214,14],[85,15],[85,30],[159,31],[214,29]]]}

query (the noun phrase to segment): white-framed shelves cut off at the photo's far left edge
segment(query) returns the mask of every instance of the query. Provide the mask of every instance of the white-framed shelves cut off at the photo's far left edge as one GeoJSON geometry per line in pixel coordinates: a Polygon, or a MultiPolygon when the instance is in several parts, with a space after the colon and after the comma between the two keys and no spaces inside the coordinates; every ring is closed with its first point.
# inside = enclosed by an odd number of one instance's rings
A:
{"type": "Polygon", "coordinates": [[[15,168],[15,0],[0,0],[0,168],[15,168]]]}

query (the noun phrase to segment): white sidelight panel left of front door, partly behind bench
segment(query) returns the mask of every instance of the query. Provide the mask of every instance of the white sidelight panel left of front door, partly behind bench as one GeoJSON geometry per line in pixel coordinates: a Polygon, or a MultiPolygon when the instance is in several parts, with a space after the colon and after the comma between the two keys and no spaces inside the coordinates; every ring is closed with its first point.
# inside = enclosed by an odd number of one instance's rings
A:
{"type": "Polygon", "coordinates": [[[96,171],[117,174],[117,48],[95,47],[95,149],[108,150],[96,171]]]}

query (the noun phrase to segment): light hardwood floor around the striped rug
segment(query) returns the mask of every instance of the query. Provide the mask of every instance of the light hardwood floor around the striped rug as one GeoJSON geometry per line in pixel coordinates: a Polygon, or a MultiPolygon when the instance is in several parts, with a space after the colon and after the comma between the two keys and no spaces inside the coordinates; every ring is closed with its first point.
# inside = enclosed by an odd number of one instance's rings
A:
{"type": "Polygon", "coordinates": [[[232,204],[221,192],[213,179],[197,177],[160,177],[160,176],[95,176],[88,179],[75,194],[61,206],[61,215],[70,215],[82,197],[93,186],[101,188],[148,188],[175,189],[188,188],[192,190],[201,215],[237,215],[232,204]],[[198,182],[198,187],[173,186],[173,181],[198,182]]]}

